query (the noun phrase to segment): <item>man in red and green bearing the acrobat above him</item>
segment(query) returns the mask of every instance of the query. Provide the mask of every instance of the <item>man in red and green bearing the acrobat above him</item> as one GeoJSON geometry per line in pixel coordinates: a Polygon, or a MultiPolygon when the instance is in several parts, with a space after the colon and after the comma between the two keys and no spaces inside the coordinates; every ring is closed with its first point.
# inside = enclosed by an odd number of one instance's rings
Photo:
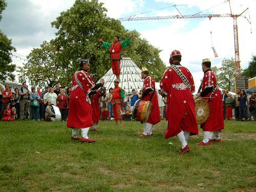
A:
{"type": "Polygon", "coordinates": [[[113,108],[113,114],[114,119],[116,120],[116,124],[118,125],[118,120],[120,119],[120,126],[123,126],[123,120],[122,115],[120,113],[121,111],[121,105],[124,105],[124,94],[122,88],[119,87],[119,81],[114,81],[114,89],[113,89],[113,95],[112,95],[112,108],[113,108]],[[121,103],[122,99],[122,103],[121,103]]]}

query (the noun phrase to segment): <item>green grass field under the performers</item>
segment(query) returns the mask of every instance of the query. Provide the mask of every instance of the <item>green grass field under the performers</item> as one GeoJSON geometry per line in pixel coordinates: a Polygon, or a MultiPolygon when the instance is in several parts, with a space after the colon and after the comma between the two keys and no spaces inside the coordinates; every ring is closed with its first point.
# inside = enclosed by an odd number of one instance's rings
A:
{"type": "Polygon", "coordinates": [[[208,146],[195,145],[199,129],[182,155],[166,121],[146,138],[139,122],[114,124],[100,121],[96,142],[82,143],[66,122],[0,122],[0,191],[256,191],[255,122],[225,121],[208,146]]]}

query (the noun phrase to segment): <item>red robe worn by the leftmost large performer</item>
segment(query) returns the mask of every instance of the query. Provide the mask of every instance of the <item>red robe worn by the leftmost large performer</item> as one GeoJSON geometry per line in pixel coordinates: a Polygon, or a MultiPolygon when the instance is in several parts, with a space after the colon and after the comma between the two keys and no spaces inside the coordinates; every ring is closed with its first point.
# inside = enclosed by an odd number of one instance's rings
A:
{"type": "Polygon", "coordinates": [[[77,71],[77,78],[82,83],[82,88],[87,94],[76,83],[74,74],[69,98],[67,126],[71,128],[87,128],[93,125],[91,100],[88,94],[95,84],[86,71],[77,71]]]}

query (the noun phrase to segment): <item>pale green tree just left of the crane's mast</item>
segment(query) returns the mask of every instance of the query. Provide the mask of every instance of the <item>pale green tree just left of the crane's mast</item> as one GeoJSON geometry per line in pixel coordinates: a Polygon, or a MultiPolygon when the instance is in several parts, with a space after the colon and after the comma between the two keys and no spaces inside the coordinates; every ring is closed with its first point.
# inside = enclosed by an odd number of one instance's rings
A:
{"type": "Polygon", "coordinates": [[[217,79],[219,86],[225,89],[231,89],[234,85],[234,77],[236,76],[234,58],[226,59],[222,61],[221,67],[217,70],[217,79]]]}

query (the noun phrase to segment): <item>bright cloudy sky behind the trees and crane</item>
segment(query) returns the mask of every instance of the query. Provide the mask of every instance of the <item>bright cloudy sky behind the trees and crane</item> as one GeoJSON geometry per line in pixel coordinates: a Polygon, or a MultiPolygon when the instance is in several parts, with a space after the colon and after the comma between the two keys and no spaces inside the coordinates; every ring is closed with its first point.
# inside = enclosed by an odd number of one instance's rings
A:
{"type": "MultiPolygon", "coordinates": [[[[16,55],[26,56],[32,48],[40,47],[44,40],[48,41],[55,37],[56,29],[51,28],[51,22],[59,16],[61,11],[69,9],[75,1],[7,0],[6,2],[8,5],[3,11],[0,29],[9,38],[12,38],[12,45],[17,50],[16,55]]],[[[135,14],[138,14],[139,17],[179,15],[175,7],[170,7],[174,5],[177,5],[176,7],[182,15],[193,15],[225,1],[101,0],[100,2],[103,2],[104,7],[108,9],[107,14],[117,19],[135,14]]],[[[253,10],[256,7],[256,1],[232,0],[230,4],[233,14],[241,14],[247,7],[249,8],[246,17],[250,17],[251,25],[244,17],[237,19],[241,68],[247,68],[248,61],[251,60],[251,56],[255,54],[254,50],[256,50],[256,13],[253,10]]],[[[230,13],[228,2],[200,14],[224,13],[230,13]]],[[[208,18],[142,20],[122,22],[122,25],[129,30],[137,30],[150,44],[163,50],[160,57],[166,66],[168,66],[170,53],[175,49],[181,51],[181,64],[191,71],[196,83],[199,83],[203,77],[201,69],[203,58],[210,58],[212,66],[220,67],[224,58],[234,57],[233,19],[231,17],[211,18],[211,20],[208,18]],[[212,32],[212,44],[219,56],[217,58],[214,57],[214,52],[211,49],[210,32],[212,32]]],[[[26,57],[20,57],[26,59],[26,57]]],[[[18,66],[23,65],[24,60],[16,57],[12,57],[12,59],[13,63],[18,66]]]]}

